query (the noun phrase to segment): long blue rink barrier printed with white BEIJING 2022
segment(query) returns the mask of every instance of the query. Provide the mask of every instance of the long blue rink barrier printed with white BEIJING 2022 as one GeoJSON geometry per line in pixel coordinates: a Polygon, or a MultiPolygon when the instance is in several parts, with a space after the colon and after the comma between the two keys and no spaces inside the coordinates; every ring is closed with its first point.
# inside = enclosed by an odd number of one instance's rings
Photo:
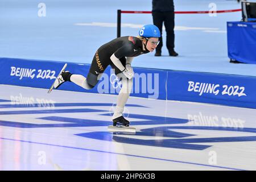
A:
{"type": "MultiPolygon", "coordinates": [[[[63,65],[64,62],[59,61],[0,58],[0,84],[48,89],[63,65]]],[[[89,64],[68,63],[66,70],[86,77],[89,68],[89,64]]],[[[134,68],[134,72],[131,91],[134,97],[256,108],[256,77],[253,76],[149,68],[134,68]]],[[[91,90],[85,90],[72,82],[61,85],[59,89],[118,94],[121,85],[108,67],[91,90]]]]}

